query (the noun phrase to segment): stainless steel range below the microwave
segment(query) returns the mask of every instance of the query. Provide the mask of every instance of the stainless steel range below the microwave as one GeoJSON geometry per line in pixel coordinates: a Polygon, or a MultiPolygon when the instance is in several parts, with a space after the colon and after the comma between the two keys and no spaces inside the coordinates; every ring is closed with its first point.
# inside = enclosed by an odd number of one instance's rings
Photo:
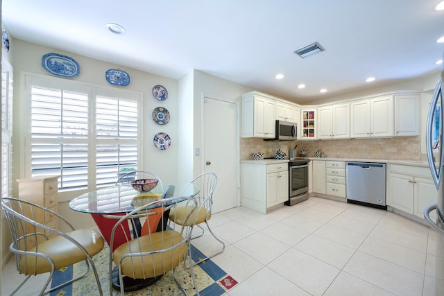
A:
{"type": "Polygon", "coordinates": [[[308,164],[310,159],[296,157],[289,161],[289,200],[287,206],[308,199],[308,164]]]}

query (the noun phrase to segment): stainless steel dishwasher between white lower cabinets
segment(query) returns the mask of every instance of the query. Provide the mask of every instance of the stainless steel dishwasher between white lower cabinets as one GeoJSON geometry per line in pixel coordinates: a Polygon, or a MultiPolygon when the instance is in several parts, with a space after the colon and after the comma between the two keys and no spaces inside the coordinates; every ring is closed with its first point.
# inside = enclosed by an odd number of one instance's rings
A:
{"type": "Polygon", "coordinates": [[[387,209],[386,164],[346,162],[347,202],[387,209]]]}

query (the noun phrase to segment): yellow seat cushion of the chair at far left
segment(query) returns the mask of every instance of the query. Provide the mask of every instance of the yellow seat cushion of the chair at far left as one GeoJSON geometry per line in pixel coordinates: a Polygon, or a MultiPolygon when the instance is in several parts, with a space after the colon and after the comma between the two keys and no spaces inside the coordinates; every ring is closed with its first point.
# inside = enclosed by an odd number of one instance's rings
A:
{"type": "MultiPolygon", "coordinates": [[[[75,241],[85,247],[89,256],[94,256],[103,249],[103,238],[92,229],[78,229],[67,233],[75,241]]],[[[48,241],[39,243],[30,252],[39,252],[49,256],[55,265],[55,269],[72,265],[86,259],[85,254],[71,241],[63,236],[54,236],[48,241]]],[[[19,255],[20,272],[25,275],[39,275],[51,271],[49,262],[40,256],[19,255]]]]}

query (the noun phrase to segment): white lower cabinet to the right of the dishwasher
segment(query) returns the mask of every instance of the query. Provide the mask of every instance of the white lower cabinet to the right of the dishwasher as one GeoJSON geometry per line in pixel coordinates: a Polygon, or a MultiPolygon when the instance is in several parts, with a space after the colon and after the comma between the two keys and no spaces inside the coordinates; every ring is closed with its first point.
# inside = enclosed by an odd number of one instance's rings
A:
{"type": "Polygon", "coordinates": [[[432,175],[425,166],[390,164],[387,177],[387,205],[407,214],[424,218],[424,209],[436,203],[432,175]]]}

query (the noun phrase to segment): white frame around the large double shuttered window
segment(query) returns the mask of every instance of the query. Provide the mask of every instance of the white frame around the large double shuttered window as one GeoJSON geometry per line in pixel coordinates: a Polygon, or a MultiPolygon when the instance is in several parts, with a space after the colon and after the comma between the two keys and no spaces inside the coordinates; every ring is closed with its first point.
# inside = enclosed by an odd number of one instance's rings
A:
{"type": "MultiPolygon", "coordinates": [[[[24,114],[24,122],[22,123],[22,130],[24,130],[24,159],[23,168],[25,178],[31,176],[31,87],[33,85],[42,85],[43,87],[51,87],[54,89],[70,89],[79,92],[85,92],[88,94],[88,138],[87,138],[87,190],[92,191],[97,189],[96,187],[96,145],[99,143],[111,143],[115,144],[112,139],[109,140],[97,140],[96,125],[93,113],[95,114],[95,98],[96,96],[110,96],[112,98],[125,98],[134,100],[137,102],[138,110],[142,109],[142,93],[131,92],[126,89],[117,89],[114,87],[103,87],[98,85],[91,85],[85,82],[79,82],[76,80],[67,80],[62,78],[56,78],[52,76],[41,76],[34,73],[24,73],[24,104],[22,110],[24,114]]],[[[143,134],[143,112],[139,112],[137,117],[137,165],[142,166],[142,134],[143,134]]],[[[124,142],[124,141],[123,141],[124,142]]],[[[60,181],[60,180],[59,180],[60,181]]],[[[69,192],[85,191],[85,189],[67,189],[69,192]]]]}

